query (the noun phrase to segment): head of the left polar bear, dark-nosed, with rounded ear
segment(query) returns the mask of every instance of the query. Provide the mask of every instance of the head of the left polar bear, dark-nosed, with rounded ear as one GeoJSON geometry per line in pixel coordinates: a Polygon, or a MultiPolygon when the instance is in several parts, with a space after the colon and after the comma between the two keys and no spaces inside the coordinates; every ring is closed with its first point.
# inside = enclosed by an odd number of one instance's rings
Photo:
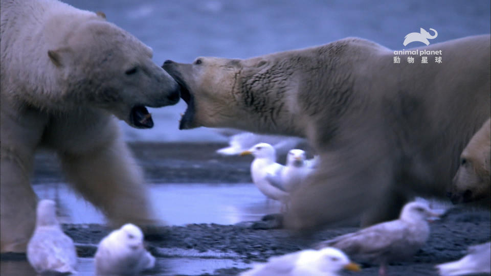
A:
{"type": "Polygon", "coordinates": [[[177,103],[179,87],[152,62],[149,47],[104,18],[74,22],[48,50],[55,83],[70,102],[103,108],[137,128],[153,126],[145,106],[177,103]]]}

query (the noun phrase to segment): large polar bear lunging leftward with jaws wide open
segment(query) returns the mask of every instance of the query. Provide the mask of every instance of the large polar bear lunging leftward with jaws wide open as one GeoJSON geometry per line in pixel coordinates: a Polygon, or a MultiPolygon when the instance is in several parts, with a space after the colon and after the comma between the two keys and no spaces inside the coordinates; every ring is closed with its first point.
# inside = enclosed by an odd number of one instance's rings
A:
{"type": "Polygon", "coordinates": [[[428,63],[345,38],[243,60],[167,60],[163,68],[188,105],[181,129],[307,137],[320,153],[322,165],[292,195],[287,225],[370,225],[395,219],[415,195],[445,196],[463,146],[491,113],[489,40],[411,49],[439,54],[428,63]]]}

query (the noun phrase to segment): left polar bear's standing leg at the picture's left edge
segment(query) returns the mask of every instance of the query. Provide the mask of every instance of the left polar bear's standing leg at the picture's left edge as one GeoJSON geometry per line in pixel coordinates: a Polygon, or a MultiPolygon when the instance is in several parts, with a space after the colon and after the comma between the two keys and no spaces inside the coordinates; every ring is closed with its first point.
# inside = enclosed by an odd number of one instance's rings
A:
{"type": "Polygon", "coordinates": [[[48,117],[4,96],[0,101],[0,252],[26,252],[37,204],[30,175],[48,117]]]}

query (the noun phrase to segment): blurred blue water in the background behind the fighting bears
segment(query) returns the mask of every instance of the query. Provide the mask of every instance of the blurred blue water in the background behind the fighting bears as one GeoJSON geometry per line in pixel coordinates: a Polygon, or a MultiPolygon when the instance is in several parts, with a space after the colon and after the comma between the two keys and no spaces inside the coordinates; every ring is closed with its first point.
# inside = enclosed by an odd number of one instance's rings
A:
{"type": "MultiPolygon", "coordinates": [[[[197,56],[249,58],[325,44],[347,36],[405,49],[406,34],[433,28],[431,43],[490,33],[489,0],[64,0],[102,11],[107,20],[153,49],[153,60],[192,62],[197,56]]],[[[410,47],[418,47],[413,43],[410,47]]],[[[127,141],[225,141],[206,128],[178,130],[186,104],[151,109],[155,126],[121,123],[127,141]]]]}

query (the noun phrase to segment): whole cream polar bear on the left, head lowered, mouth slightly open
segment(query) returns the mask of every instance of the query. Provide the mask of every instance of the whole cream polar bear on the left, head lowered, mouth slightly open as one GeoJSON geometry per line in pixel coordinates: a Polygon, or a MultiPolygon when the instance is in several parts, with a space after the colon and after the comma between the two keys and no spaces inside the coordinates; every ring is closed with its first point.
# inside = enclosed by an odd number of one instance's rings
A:
{"type": "Polygon", "coordinates": [[[1,0],[0,250],[25,251],[35,223],[36,149],[56,151],[76,191],[116,224],[151,218],[118,122],[178,100],[152,51],[103,16],[55,0],[1,0]],[[114,114],[114,116],[113,116],[114,114]]]}

